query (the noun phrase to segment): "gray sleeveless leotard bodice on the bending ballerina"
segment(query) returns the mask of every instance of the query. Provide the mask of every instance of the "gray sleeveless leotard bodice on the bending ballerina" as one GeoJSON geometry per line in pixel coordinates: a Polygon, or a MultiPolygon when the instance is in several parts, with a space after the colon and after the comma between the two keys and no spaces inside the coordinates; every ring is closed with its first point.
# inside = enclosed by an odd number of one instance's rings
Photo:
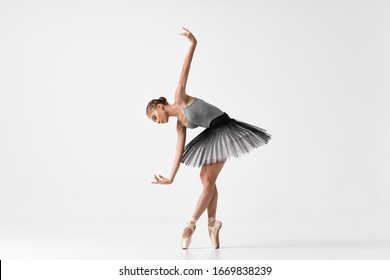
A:
{"type": "Polygon", "coordinates": [[[199,98],[194,98],[190,105],[182,108],[188,121],[188,128],[196,128],[198,126],[208,128],[213,119],[223,114],[220,109],[199,98]]]}

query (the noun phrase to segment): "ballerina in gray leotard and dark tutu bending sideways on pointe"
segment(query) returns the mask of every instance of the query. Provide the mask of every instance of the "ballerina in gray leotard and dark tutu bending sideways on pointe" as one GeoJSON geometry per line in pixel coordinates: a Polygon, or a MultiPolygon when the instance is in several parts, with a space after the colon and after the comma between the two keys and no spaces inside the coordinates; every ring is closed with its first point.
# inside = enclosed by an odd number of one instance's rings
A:
{"type": "Polygon", "coordinates": [[[190,65],[197,40],[184,28],[181,36],[187,37],[190,47],[184,59],[179,83],[175,92],[174,103],[160,97],[153,99],[146,107],[146,114],[152,121],[167,123],[170,117],[177,118],[177,147],[171,176],[156,176],[154,184],[172,184],[180,163],[201,167],[200,180],[203,191],[192,218],[186,224],[182,234],[182,248],[188,249],[196,222],[207,209],[208,231],[214,248],[219,248],[219,231],[222,223],[215,219],[217,211],[218,191],[216,181],[225,161],[231,156],[239,157],[254,148],[267,144],[271,135],[265,129],[231,119],[219,108],[202,99],[186,93],[186,84],[190,65]],[[185,146],[186,129],[204,127],[202,133],[185,146]]]}

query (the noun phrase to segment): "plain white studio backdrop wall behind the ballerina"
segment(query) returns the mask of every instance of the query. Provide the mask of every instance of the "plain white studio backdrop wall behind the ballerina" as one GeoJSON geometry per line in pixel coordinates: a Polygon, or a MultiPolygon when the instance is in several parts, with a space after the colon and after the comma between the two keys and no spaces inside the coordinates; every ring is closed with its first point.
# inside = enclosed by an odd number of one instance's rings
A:
{"type": "Polygon", "coordinates": [[[184,26],[198,39],[188,93],[273,137],[225,165],[218,217],[390,234],[389,9],[1,1],[0,226],[185,224],[199,169],[150,184],[170,174],[176,132],[145,114],[152,98],[173,101],[184,26]]]}

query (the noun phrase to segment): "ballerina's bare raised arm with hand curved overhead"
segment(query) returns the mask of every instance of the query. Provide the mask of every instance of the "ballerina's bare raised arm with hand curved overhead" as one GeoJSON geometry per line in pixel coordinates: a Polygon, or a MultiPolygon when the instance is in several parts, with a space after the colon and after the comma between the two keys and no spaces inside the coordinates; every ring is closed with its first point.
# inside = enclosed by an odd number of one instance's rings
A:
{"type": "Polygon", "coordinates": [[[183,29],[185,30],[185,32],[181,33],[180,35],[187,37],[187,39],[190,41],[190,47],[187,51],[186,57],[184,58],[183,68],[181,70],[180,79],[175,94],[176,101],[180,101],[183,99],[184,101],[186,101],[187,79],[191,68],[192,57],[194,56],[194,52],[197,44],[197,40],[194,37],[194,35],[188,29],[184,27],[183,29]]]}

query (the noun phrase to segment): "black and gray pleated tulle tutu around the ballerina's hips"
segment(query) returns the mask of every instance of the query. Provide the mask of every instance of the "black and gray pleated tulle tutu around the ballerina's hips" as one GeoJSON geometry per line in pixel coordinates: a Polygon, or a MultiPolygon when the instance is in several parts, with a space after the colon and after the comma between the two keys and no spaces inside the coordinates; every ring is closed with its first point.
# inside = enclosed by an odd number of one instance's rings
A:
{"type": "Polygon", "coordinates": [[[270,139],[265,129],[236,121],[224,113],[185,146],[181,162],[192,167],[225,162],[267,144],[270,139]]]}

